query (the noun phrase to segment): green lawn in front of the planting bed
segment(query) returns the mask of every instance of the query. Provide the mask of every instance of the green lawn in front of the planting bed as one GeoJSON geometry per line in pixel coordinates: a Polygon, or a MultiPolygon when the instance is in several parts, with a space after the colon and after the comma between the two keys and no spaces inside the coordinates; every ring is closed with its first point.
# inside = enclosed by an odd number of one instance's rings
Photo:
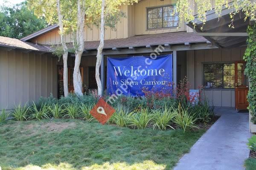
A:
{"type": "Polygon", "coordinates": [[[130,129],[77,119],[8,121],[0,123],[0,166],[169,170],[204,132],[130,129]]]}

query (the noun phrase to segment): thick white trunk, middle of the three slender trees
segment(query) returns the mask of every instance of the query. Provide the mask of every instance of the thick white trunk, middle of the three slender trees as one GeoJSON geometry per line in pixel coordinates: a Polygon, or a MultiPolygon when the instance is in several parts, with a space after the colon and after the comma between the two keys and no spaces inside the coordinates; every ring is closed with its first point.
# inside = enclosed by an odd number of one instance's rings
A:
{"type": "Polygon", "coordinates": [[[82,92],[82,78],[80,73],[81,56],[84,52],[84,17],[85,17],[85,4],[84,0],[77,0],[77,30],[76,30],[76,43],[77,48],[75,51],[76,59],[73,73],[73,85],[76,95],[83,95],[82,92]]]}

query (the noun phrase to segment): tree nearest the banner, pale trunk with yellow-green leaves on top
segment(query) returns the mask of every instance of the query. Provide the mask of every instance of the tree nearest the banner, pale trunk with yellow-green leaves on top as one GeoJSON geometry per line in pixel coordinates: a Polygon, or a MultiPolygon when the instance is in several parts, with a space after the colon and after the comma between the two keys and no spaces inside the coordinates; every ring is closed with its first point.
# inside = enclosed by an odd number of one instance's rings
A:
{"type": "MultiPolygon", "coordinates": [[[[92,1],[91,1],[92,2],[92,1]]],[[[95,78],[98,87],[98,96],[102,96],[103,87],[99,77],[99,68],[102,62],[102,50],[104,47],[104,34],[105,26],[109,26],[111,29],[115,29],[116,23],[119,22],[121,17],[125,17],[125,14],[119,9],[121,5],[132,5],[137,3],[138,0],[96,0],[91,3],[90,10],[94,11],[93,14],[87,13],[90,16],[90,20],[93,24],[98,26],[100,21],[100,43],[96,56],[95,78]],[[99,5],[101,3],[101,6],[99,5]]]]}

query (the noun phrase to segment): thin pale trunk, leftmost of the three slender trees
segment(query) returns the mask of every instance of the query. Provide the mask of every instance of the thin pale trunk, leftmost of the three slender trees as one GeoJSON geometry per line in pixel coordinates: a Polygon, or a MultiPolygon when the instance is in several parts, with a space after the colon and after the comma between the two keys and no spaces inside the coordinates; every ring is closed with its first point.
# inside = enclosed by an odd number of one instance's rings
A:
{"type": "Polygon", "coordinates": [[[64,97],[68,96],[68,73],[67,73],[67,56],[68,56],[68,49],[65,42],[64,37],[64,29],[63,29],[63,23],[62,23],[62,15],[61,15],[61,4],[60,0],[56,0],[57,3],[57,11],[58,11],[58,25],[60,29],[60,36],[61,36],[61,45],[63,48],[63,89],[64,89],[64,97]]]}

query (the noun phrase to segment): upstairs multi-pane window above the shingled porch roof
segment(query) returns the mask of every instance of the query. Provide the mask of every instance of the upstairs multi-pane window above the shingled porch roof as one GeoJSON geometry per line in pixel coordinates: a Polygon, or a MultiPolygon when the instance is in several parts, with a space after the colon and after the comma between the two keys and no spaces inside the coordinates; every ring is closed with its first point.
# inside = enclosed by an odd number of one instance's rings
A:
{"type": "Polygon", "coordinates": [[[178,26],[178,14],[173,15],[176,6],[148,8],[148,29],[168,28],[178,26]]]}

